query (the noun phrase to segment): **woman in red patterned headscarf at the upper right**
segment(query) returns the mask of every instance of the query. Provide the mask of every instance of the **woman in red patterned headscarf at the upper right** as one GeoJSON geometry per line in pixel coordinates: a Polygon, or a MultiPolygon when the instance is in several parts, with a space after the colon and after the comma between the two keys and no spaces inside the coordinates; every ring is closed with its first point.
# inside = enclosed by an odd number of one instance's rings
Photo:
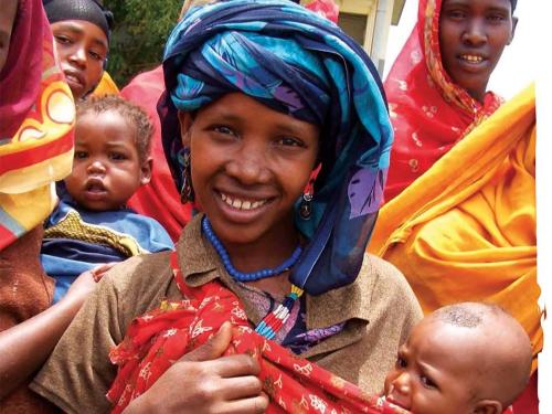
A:
{"type": "Polygon", "coordinates": [[[501,104],[486,92],[517,19],[510,0],[420,0],[418,21],[385,79],[395,141],[385,201],[501,104]]]}

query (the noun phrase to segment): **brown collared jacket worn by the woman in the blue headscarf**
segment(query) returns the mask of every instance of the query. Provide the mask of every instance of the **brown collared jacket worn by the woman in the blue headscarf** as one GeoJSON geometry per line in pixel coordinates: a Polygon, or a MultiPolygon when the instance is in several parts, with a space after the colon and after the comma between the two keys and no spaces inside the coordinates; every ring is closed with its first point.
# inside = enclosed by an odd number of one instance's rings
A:
{"type": "MultiPolygon", "coordinates": [[[[185,227],[177,245],[182,274],[191,286],[216,277],[240,296],[216,252],[201,235],[199,217],[185,227]]],[[[104,277],[78,312],[31,389],[68,413],[105,413],[105,394],[116,374],[108,359],[130,321],[158,307],[161,299],[179,299],[169,253],[130,258],[104,277]]],[[[254,306],[241,297],[252,323],[261,321],[254,306]]],[[[399,346],[422,310],[408,284],[389,263],[367,255],[357,282],[312,297],[307,296],[307,329],[347,321],[344,329],[301,357],[378,392],[395,362],[399,346]]]]}

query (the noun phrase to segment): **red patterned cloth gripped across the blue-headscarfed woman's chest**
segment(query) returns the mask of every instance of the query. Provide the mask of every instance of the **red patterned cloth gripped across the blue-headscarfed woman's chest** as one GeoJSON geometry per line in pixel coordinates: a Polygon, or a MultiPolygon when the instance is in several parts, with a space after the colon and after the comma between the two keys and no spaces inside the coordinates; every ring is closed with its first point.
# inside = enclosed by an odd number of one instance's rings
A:
{"type": "Polygon", "coordinates": [[[124,341],[112,350],[112,362],[119,365],[107,393],[115,404],[113,413],[123,412],[174,361],[205,343],[227,320],[234,330],[225,354],[247,353],[257,358],[263,391],[270,397],[267,413],[408,413],[259,336],[250,327],[232,291],[216,282],[189,287],[176,254],[172,266],[179,289],[188,299],[163,301],[160,308],[135,319],[124,341]]]}

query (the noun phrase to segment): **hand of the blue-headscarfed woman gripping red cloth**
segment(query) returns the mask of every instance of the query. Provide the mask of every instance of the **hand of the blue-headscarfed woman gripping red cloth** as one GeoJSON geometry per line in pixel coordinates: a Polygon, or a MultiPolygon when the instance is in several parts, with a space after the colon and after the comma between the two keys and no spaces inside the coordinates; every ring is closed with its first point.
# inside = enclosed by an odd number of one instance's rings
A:
{"type": "Polygon", "coordinates": [[[125,414],[134,413],[264,413],[257,361],[245,354],[222,357],[232,340],[223,323],[208,342],[182,357],[125,414]]]}

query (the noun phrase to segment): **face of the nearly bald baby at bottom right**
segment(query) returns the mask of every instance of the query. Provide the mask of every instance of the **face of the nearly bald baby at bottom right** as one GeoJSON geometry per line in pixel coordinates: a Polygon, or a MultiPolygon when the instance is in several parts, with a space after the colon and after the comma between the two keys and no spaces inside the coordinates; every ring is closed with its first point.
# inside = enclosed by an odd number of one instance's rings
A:
{"type": "Polygon", "coordinates": [[[464,337],[461,328],[438,321],[414,327],[385,378],[386,400],[415,414],[473,413],[477,358],[464,337]]]}

